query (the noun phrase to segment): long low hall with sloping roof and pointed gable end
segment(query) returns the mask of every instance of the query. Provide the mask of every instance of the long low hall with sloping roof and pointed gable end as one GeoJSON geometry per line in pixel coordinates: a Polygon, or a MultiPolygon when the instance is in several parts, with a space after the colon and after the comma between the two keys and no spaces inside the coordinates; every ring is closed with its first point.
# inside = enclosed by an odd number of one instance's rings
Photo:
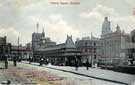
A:
{"type": "Polygon", "coordinates": [[[41,57],[54,65],[72,66],[75,65],[75,59],[81,61],[80,51],[76,49],[72,36],[67,36],[65,43],[37,49],[34,52],[34,60],[39,61],[41,57]]]}

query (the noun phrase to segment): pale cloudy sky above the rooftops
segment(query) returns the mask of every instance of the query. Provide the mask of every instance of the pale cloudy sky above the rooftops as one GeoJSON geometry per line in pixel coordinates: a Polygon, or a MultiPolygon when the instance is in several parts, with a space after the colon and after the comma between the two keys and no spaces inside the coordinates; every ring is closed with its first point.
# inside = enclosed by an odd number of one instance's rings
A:
{"type": "Polygon", "coordinates": [[[19,36],[25,45],[31,42],[39,23],[38,32],[44,28],[45,36],[57,43],[65,42],[67,35],[74,41],[91,33],[100,38],[105,16],[112,31],[119,24],[130,33],[135,29],[133,11],[135,0],[0,0],[0,36],[7,36],[12,44],[17,44],[19,36]],[[61,4],[65,2],[68,4],[61,4]]]}

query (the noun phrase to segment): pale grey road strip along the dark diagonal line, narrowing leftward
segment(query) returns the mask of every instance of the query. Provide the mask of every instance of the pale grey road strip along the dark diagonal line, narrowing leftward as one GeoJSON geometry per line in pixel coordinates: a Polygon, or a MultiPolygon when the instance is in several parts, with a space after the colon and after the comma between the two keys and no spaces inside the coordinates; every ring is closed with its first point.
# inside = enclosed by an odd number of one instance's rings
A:
{"type": "MultiPolygon", "coordinates": [[[[28,63],[27,61],[23,61],[24,63],[28,63]]],[[[39,63],[32,63],[33,65],[39,65],[39,63]]],[[[120,72],[114,72],[111,70],[104,70],[100,68],[89,68],[86,70],[86,67],[79,67],[78,71],[75,70],[75,67],[69,66],[53,66],[53,65],[44,65],[47,68],[60,70],[64,72],[70,72],[77,75],[87,76],[94,79],[99,79],[108,82],[114,82],[124,85],[134,85],[135,75],[125,74],[120,72]]]]}

